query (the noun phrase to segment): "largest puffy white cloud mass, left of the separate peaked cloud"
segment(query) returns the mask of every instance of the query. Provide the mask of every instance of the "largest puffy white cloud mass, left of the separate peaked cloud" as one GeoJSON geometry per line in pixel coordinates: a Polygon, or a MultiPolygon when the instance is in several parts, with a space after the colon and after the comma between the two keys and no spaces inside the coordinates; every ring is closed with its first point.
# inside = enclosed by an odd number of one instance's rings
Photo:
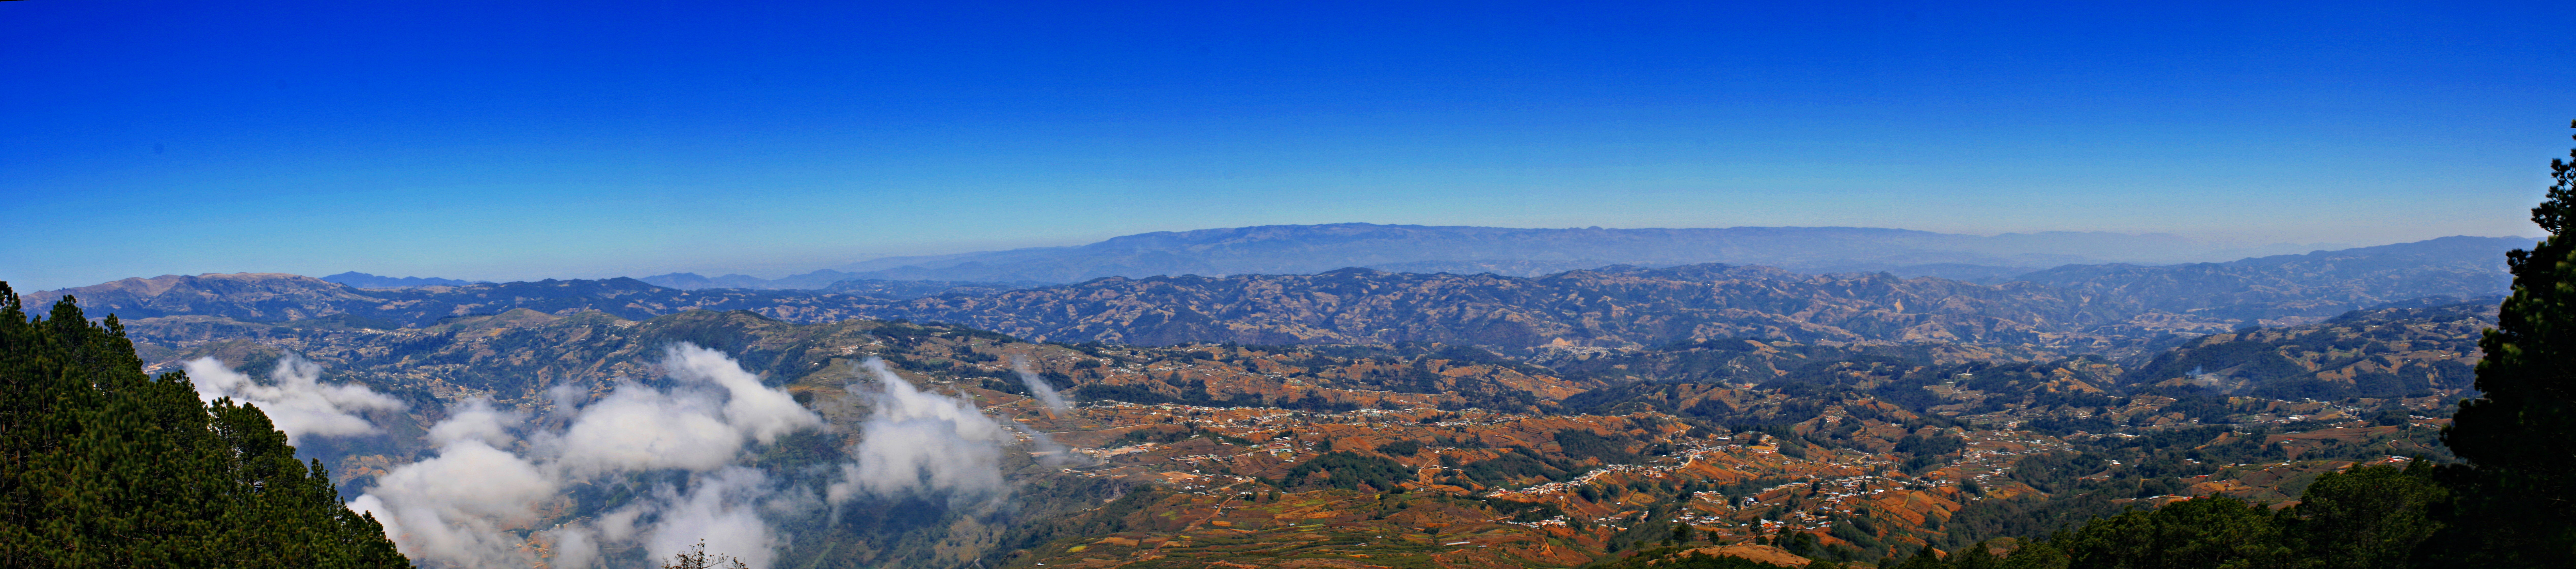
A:
{"type": "MultiPolygon", "coordinates": [[[[675,386],[618,381],[600,402],[569,407],[577,394],[549,391],[572,425],[531,433],[536,453],[502,451],[523,415],[489,402],[464,402],[430,427],[438,456],[392,469],[350,510],[374,512],[404,556],[430,566],[528,566],[513,536],[538,520],[536,507],[567,481],[629,471],[693,471],[598,520],[541,530],[554,543],[551,566],[598,566],[605,548],[644,546],[667,556],[701,538],[708,554],[768,566],[778,538],[762,512],[811,510],[806,489],[778,489],[755,469],[732,466],[750,440],[824,427],[822,415],[783,389],[760,386],[724,353],[677,345],[665,353],[675,386]]],[[[191,371],[193,373],[193,371],[191,371]]]]}

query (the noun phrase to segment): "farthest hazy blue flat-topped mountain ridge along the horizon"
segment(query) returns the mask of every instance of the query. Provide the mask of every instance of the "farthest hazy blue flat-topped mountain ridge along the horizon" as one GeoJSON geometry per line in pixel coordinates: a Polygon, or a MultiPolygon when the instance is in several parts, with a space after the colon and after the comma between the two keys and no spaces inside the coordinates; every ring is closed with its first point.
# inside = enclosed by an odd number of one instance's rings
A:
{"type": "MultiPolygon", "coordinates": [[[[2259,247],[2228,252],[2306,252],[2259,247]]],[[[1873,227],[1512,229],[1417,224],[1283,224],[1149,232],[1077,247],[881,257],[835,268],[886,281],[1079,283],[1123,275],[1303,275],[1334,268],[1548,275],[1600,265],[1772,265],[1801,273],[1994,278],[2084,263],[2231,260],[2174,234],[1940,234],[1873,227]],[[2218,257],[2213,257],[2218,255],[2218,257]]]]}

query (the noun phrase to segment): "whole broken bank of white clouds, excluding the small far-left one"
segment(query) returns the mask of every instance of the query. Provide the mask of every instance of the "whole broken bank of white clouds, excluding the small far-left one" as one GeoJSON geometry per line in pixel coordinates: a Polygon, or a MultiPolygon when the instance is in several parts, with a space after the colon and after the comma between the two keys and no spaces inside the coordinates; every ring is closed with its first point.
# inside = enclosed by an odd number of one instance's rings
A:
{"type": "MultiPolygon", "coordinates": [[[[428,430],[435,456],[379,476],[350,510],[374,512],[402,554],[425,566],[531,566],[538,561],[531,546],[551,548],[549,566],[603,566],[626,564],[636,548],[667,556],[698,541],[708,554],[768,566],[788,543],[773,520],[860,494],[1007,494],[999,458],[1018,425],[1005,427],[969,399],[914,389],[884,360],[858,366],[860,381],[848,391],[871,415],[858,425],[850,461],[822,466],[822,479],[806,481],[814,487],[742,463],[752,443],[827,430],[817,412],[698,345],[670,348],[662,371],[667,389],[618,381],[587,404],[580,391],[556,389],[556,417],[567,420],[551,425],[562,427],[533,427],[544,422],[479,399],[456,404],[428,430]],[[533,528],[564,489],[647,471],[683,476],[595,518],[533,528]]],[[[1043,443],[1043,433],[1033,438],[1043,443]]]]}

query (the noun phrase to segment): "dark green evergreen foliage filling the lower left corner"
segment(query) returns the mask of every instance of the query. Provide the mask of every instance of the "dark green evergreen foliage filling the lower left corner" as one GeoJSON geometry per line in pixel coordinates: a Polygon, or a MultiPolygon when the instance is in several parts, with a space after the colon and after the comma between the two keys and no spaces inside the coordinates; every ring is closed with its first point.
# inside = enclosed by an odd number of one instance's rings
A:
{"type": "Polygon", "coordinates": [[[0,566],[410,566],[268,415],[0,283],[0,566]]]}

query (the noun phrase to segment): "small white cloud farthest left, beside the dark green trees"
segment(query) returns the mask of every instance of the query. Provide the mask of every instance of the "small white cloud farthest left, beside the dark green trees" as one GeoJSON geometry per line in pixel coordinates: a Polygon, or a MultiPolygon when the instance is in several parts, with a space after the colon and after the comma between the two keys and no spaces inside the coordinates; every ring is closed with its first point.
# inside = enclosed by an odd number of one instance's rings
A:
{"type": "Polygon", "coordinates": [[[188,360],[185,371],[196,381],[198,399],[232,396],[232,402],[258,404],[260,412],[268,412],[268,422],[286,433],[286,443],[304,440],[304,435],[368,435],[376,433],[376,425],[358,412],[404,409],[402,399],[361,384],[325,386],[322,366],[294,353],[281,358],[276,371],[268,371],[268,384],[252,381],[216,358],[188,360]]]}

